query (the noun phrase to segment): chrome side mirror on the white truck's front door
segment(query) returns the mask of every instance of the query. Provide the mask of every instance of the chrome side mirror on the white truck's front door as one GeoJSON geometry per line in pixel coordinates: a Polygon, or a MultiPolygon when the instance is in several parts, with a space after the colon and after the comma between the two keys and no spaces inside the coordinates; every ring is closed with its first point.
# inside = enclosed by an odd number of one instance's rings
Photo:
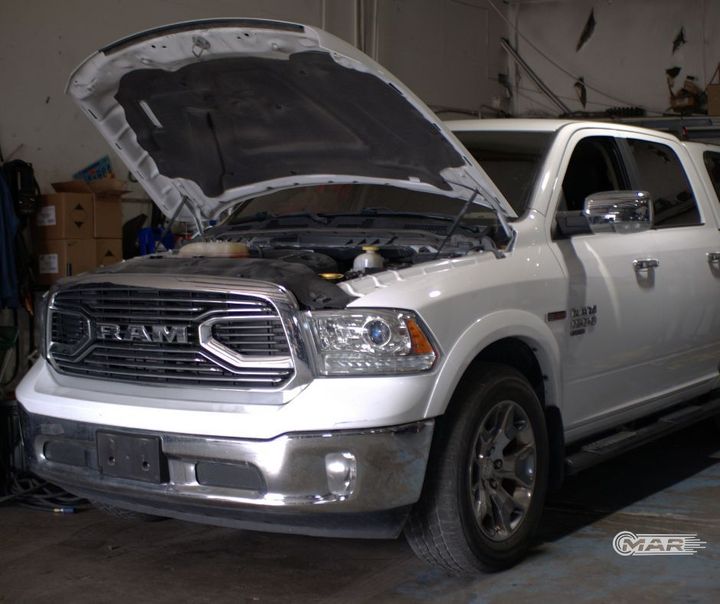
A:
{"type": "Polygon", "coordinates": [[[602,191],[585,198],[583,214],[593,233],[639,233],[653,223],[647,191],[602,191]]]}

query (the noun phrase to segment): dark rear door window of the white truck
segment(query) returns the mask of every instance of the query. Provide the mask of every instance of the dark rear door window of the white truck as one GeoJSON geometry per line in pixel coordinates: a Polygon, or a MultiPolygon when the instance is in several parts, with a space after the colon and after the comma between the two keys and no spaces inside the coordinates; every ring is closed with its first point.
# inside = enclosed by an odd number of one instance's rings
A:
{"type": "Polygon", "coordinates": [[[656,228],[702,224],[695,196],[675,152],[660,143],[627,139],[638,170],[637,187],[653,200],[656,228]]]}

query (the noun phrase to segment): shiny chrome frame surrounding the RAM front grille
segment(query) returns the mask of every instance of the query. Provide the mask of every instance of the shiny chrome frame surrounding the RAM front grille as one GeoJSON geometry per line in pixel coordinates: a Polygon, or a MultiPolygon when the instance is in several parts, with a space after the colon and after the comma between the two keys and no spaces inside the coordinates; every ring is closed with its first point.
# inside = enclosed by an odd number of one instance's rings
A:
{"type": "MultiPolygon", "coordinates": [[[[272,362],[269,366],[267,366],[268,369],[292,369],[294,367],[294,375],[287,380],[284,384],[281,384],[277,387],[248,387],[248,386],[236,386],[229,384],[228,388],[232,388],[234,390],[239,390],[242,392],[258,392],[258,393],[272,393],[272,392],[282,392],[285,394],[283,396],[283,399],[285,402],[287,400],[290,400],[293,398],[300,389],[303,389],[310,381],[313,379],[313,370],[312,370],[312,360],[310,358],[311,354],[311,346],[308,346],[307,340],[304,337],[304,333],[306,333],[306,330],[301,326],[299,319],[299,305],[297,303],[297,300],[295,299],[295,296],[289,292],[286,288],[270,283],[265,281],[257,281],[257,280],[251,280],[251,279],[236,279],[236,278],[227,278],[227,277],[214,277],[214,276],[188,276],[188,275],[174,275],[174,274],[112,274],[112,273],[91,273],[88,275],[82,275],[79,277],[72,278],[71,280],[68,280],[63,283],[63,286],[58,287],[57,289],[54,289],[51,291],[49,300],[48,300],[48,306],[47,306],[47,322],[46,322],[46,358],[48,359],[48,362],[50,363],[51,367],[54,371],[56,371],[59,375],[68,375],[69,377],[74,377],[78,379],[83,379],[83,376],[77,376],[77,375],[70,375],[66,374],[62,371],[61,368],[58,367],[55,359],[53,359],[51,353],[51,342],[52,342],[52,315],[53,311],[56,310],[55,306],[55,298],[56,296],[62,292],[65,291],[67,286],[78,286],[78,285],[102,285],[102,284],[112,284],[112,285],[119,285],[119,286],[125,286],[125,287],[131,287],[131,288],[152,288],[152,289],[166,289],[166,290],[179,290],[179,291],[202,291],[202,292],[217,292],[219,294],[223,295],[238,295],[238,296],[250,296],[258,298],[259,300],[264,301],[265,303],[271,305],[277,314],[277,317],[279,317],[279,320],[282,321],[283,329],[285,331],[285,335],[287,338],[288,346],[290,349],[290,355],[289,357],[269,357],[272,359],[272,362]],[[279,363],[277,362],[280,359],[279,363]]],[[[63,310],[63,312],[66,312],[63,310]]],[[[83,313],[77,313],[83,315],[83,313]]],[[[207,313],[207,316],[209,317],[207,321],[212,320],[213,313],[207,313]]],[[[84,316],[84,315],[83,315],[84,316]]],[[[206,315],[202,315],[200,318],[205,317],[206,315]]],[[[228,319],[231,317],[236,317],[237,315],[234,314],[223,314],[220,315],[222,319],[228,319]]],[[[270,317],[268,317],[270,318],[270,317]]],[[[157,320],[157,316],[153,317],[154,320],[157,320]]],[[[182,318],[181,318],[182,319],[182,318]]],[[[199,317],[193,317],[195,321],[199,319],[199,317]]],[[[91,341],[93,338],[91,338],[91,341]]],[[[212,339],[214,342],[215,340],[212,339]]],[[[227,354],[224,350],[220,350],[219,352],[221,354],[218,354],[215,350],[213,350],[213,346],[211,342],[207,342],[207,346],[203,346],[208,351],[208,354],[205,355],[202,353],[202,350],[198,350],[197,352],[199,354],[202,354],[203,357],[212,360],[214,363],[217,363],[216,358],[211,358],[209,356],[210,353],[216,354],[217,357],[223,361],[223,365],[219,365],[221,367],[224,367],[228,371],[232,371],[237,374],[242,373],[242,369],[249,367],[250,361],[248,361],[248,364],[244,362],[244,359],[240,359],[237,353],[232,352],[232,354],[227,354]],[[239,371],[240,370],[240,371],[239,371]]],[[[90,353],[90,351],[96,347],[97,344],[94,344],[93,346],[89,346],[87,350],[82,351],[83,357],[79,357],[77,360],[81,360],[90,353]]],[[[222,346],[218,343],[218,348],[222,346]]],[[[224,347],[223,347],[224,348],[224,347]]],[[[216,348],[217,349],[217,348],[216,348]]],[[[229,349],[227,349],[229,350],[229,349]]],[[[254,357],[253,363],[255,365],[255,368],[262,368],[264,361],[262,360],[263,357],[254,357]]],[[[140,376],[138,376],[140,377],[140,376]]],[[[94,379],[91,377],[88,377],[87,379],[94,379]]],[[[209,378],[209,379],[217,379],[217,378],[209,378]]],[[[198,380],[202,381],[202,380],[198,380]]],[[[218,380],[222,381],[222,380],[218,380]]],[[[139,382],[140,383],[140,382],[139,382]]],[[[145,384],[149,386],[157,386],[157,382],[152,382],[148,380],[147,382],[144,382],[145,384]]],[[[163,384],[163,386],[167,387],[167,385],[163,384]]],[[[173,383],[172,387],[177,388],[186,388],[186,387],[194,387],[193,385],[186,385],[182,383],[173,383]]]]}

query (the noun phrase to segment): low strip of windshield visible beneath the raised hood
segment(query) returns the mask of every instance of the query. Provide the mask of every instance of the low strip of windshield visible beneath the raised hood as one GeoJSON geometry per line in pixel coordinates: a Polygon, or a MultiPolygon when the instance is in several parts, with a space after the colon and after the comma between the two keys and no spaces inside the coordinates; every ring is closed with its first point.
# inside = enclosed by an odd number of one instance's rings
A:
{"type": "MultiPolygon", "coordinates": [[[[419,217],[455,218],[465,202],[453,197],[419,193],[385,185],[319,185],[275,191],[240,204],[225,225],[237,225],[268,217],[312,214],[372,215],[412,213],[419,217]]],[[[463,224],[496,226],[495,213],[473,205],[463,215],[463,224]]]]}

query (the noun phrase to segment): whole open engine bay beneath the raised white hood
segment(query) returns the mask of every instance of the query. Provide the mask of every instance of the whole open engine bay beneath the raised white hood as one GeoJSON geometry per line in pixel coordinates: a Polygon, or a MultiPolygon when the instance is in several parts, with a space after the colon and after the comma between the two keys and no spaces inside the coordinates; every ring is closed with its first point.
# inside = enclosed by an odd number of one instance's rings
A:
{"type": "Polygon", "coordinates": [[[327,185],[244,201],[178,250],[99,272],[253,279],[285,287],[305,309],[334,309],[351,300],[338,283],[469,253],[500,257],[503,237],[494,212],[470,202],[327,185]]]}

